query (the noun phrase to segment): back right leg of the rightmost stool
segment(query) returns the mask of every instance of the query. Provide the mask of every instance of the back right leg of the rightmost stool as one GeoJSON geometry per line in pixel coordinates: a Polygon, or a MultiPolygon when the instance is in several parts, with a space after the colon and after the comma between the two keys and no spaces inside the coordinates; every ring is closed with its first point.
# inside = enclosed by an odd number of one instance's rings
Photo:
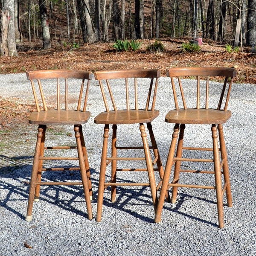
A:
{"type": "Polygon", "coordinates": [[[219,131],[219,140],[220,140],[220,148],[221,148],[221,160],[224,161],[223,175],[224,175],[224,181],[226,185],[227,206],[232,207],[233,203],[232,203],[232,194],[231,194],[231,187],[230,187],[230,175],[228,170],[227,151],[226,151],[222,125],[218,125],[218,131],[219,131]]]}

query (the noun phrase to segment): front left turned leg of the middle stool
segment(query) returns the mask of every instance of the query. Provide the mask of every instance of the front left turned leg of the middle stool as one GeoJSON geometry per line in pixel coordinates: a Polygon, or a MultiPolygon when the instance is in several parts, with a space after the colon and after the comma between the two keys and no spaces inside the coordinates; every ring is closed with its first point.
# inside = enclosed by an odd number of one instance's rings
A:
{"type": "Polygon", "coordinates": [[[100,171],[99,171],[99,189],[98,189],[96,221],[101,221],[101,218],[102,218],[103,193],[104,193],[104,186],[105,186],[107,153],[108,153],[108,137],[109,137],[109,125],[105,125],[104,135],[103,135],[103,146],[102,146],[102,159],[101,159],[100,171]]]}

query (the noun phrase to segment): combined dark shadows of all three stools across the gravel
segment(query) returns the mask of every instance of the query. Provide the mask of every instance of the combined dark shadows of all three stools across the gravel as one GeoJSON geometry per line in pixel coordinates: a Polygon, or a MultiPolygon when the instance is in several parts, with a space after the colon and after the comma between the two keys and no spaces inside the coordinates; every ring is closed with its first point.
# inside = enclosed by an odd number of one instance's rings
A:
{"type": "MultiPolygon", "coordinates": [[[[32,162],[33,156],[7,157],[5,155],[0,155],[0,206],[15,213],[15,215],[19,216],[21,219],[24,219],[26,214],[26,209],[25,212],[23,212],[23,209],[24,204],[27,204],[29,195],[29,181],[32,162]],[[23,207],[19,207],[19,205],[23,205],[23,207]]],[[[59,166],[63,166],[63,164],[61,165],[60,163],[59,166]]],[[[90,169],[90,172],[93,174],[96,171],[95,169],[90,169]]],[[[45,172],[43,179],[45,181],[80,181],[80,174],[79,172],[45,172]]],[[[92,175],[91,180],[94,197],[92,203],[96,204],[98,179],[93,178],[92,175]]],[[[128,180],[120,179],[120,182],[127,181],[128,180]]],[[[118,211],[126,212],[129,215],[148,223],[154,222],[154,209],[150,189],[148,187],[143,186],[140,188],[136,187],[134,189],[117,187],[115,202],[111,202],[110,194],[111,189],[108,187],[104,193],[103,207],[110,208],[108,209],[110,211],[111,209],[116,209],[118,211]]],[[[177,203],[165,203],[164,208],[175,214],[183,215],[187,218],[217,227],[216,223],[199,218],[195,216],[193,212],[190,214],[189,210],[186,212],[185,209],[181,209],[184,201],[187,200],[198,200],[207,204],[216,204],[214,201],[180,192],[177,203]]],[[[42,186],[40,201],[52,204],[53,207],[59,207],[77,215],[87,215],[82,186],[42,186]],[[84,207],[81,207],[83,203],[84,207]]],[[[37,204],[40,204],[40,201],[37,204]]],[[[33,210],[33,214],[37,213],[33,210]]],[[[107,215],[109,213],[105,212],[105,214],[107,215]]]]}

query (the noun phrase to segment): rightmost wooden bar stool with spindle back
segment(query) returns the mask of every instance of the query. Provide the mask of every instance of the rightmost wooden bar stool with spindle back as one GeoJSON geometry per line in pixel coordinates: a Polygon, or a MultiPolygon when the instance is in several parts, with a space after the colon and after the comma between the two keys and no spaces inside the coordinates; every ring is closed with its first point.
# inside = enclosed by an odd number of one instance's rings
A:
{"type": "MultiPolygon", "coordinates": [[[[227,110],[227,105],[230,97],[230,90],[233,78],[236,76],[236,70],[226,67],[181,67],[181,68],[169,68],[167,69],[167,76],[171,78],[172,90],[175,101],[175,110],[167,113],[165,121],[169,123],[175,123],[174,132],[172,134],[172,142],[166,161],[166,168],[163,177],[163,184],[161,187],[159,202],[157,206],[157,212],[155,222],[160,222],[161,212],[163,209],[163,203],[165,199],[166,190],[171,186],[172,188],[172,203],[176,202],[177,188],[178,187],[191,187],[191,188],[203,188],[203,189],[215,189],[217,197],[218,207],[218,224],[219,227],[224,227],[224,214],[223,214],[223,194],[226,192],[227,205],[232,207],[232,196],[230,189],[230,176],[227,164],[227,152],[223,135],[223,124],[230,119],[231,111],[227,110]],[[197,78],[195,87],[192,86],[193,81],[186,80],[186,88],[189,86],[189,91],[183,90],[184,80],[181,79],[184,76],[197,78]],[[175,80],[174,78],[177,78],[175,80]],[[217,79],[223,78],[224,84],[220,84],[219,98],[214,99],[212,87],[210,85],[210,78],[217,79]],[[204,81],[203,81],[204,79],[204,81]],[[176,81],[178,86],[176,87],[176,81]],[[178,88],[178,89],[177,89],[178,88]],[[195,88],[195,90],[194,90],[195,88]],[[195,91],[195,96],[192,91],[195,91]],[[204,91],[204,93],[202,93],[204,91]],[[177,97],[179,92],[180,98],[177,97]],[[201,99],[201,94],[204,94],[204,101],[201,99]],[[194,105],[187,105],[188,99],[192,101],[195,98],[194,105]],[[204,102],[204,103],[202,103],[204,102]],[[179,105],[183,105],[182,108],[179,105]],[[203,105],[204,104],[204,105],[203,105]],[[184,131],[186,125],[211,125],[212,148],[202,148],[193,145],[192,147],[183,146],[184,131]],[[178,142],[177,142],[178,141],[178,142]],[[176,157],[175,155],[175,147],[176,157]],[[218,145],[219,143],[219,145],[218,145]],[[212,158],[189,158],[183,157],[184,151],[194,150],[200,154],[202,151],[212,151],[212,158]],[[186,162],[182,166],[182,162],[186,162]],[[188,162],[201,162],[201,163],[213,163],[214,171],[209,170],[194,170],[186,169],[184,166],[188,166],[188,162]],[[170,173],[172,166],[174,167],[174,177],[171,183],[169,183],[170,173]],[[222,171],[221,171],[222,170],[222,171]],[[188,173],[206,173],[215,175],[214,186],[194,185],[180,183],[180,172],[188,173]],[[224,186],[222,186],[221,175],[224,176],[224,186]]],[[[216,84],[215,84],[216,87],[216,84]]],[[[215,88],[214,93],[217,92],[215,88]]],[[[217,96],[218,97],[218,96],[217,96]]],[[[198,134],[199,126],[193,131],[198,134]]],[[[200,134],[198,135],[201,136],[200,134]]],[[[191,151],[190,151],[191,152],[191,151]]],[[[194,156],[194,155],[193,155],[194,156]]]]}

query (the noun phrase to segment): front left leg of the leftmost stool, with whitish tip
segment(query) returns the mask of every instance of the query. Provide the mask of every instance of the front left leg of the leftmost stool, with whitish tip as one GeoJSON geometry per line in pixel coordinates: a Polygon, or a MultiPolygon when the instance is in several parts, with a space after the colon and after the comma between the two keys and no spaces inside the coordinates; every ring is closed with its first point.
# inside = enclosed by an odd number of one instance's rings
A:
{"type": "Polygon", "coordinates": [[[35,145],[35,155],[33,160],[30,188],[29,188],[29,201],[28,201],[27,213],[25,218],[26,221],[32,220],[32,208],[33,208],[33,201],[35,197],[35,187],[36,187],[36,181],[38,176],[39,157],[41,152],[41,139],[43,137],[44,130],[45,130],[45,125],[38,126],[37,141],[35,145]]]}

